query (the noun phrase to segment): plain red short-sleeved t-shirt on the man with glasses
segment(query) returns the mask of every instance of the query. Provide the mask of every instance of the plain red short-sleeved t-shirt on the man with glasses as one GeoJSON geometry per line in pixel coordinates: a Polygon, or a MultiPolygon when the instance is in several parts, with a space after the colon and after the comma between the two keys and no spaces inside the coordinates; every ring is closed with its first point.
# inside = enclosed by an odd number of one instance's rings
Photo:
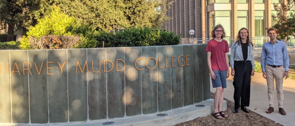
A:
{"type": "Polygon", "coordinates": [[[225,61],[225,53],[228,53],[229,51],[228,43],[223,39],[221,42],[218,42],[215,39],[208,41],[206,52],[211,52],[212,70],[228,70],[228,63],[225,61]]]}

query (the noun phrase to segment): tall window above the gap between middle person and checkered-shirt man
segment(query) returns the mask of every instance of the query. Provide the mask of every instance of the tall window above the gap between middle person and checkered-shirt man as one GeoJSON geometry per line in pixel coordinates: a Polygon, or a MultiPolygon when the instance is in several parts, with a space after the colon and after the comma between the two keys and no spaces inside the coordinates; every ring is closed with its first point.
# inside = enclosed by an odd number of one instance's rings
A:
{"type": "Polygon", "coordinates": [[[265,35],[264,11],[255,11],[255,36],[265,35]]]}

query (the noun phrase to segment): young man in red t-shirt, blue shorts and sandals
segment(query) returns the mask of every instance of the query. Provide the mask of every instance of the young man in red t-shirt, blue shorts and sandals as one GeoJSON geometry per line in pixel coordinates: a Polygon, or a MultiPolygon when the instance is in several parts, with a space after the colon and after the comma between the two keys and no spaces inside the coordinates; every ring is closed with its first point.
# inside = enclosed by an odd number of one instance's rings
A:
{"type": "Polygon", "coordinates": [[[211,32],[211,39],[206,48],[208,67],[210,70],[210,76],[212,78],[212,86],[216,88],[214,95],[214,112],[212,115],[217,119],[222,119],[222,117],[228,117],[222,111],[223,93],[224,88],[226,88],[226,78],[229,77],[229,62],[227,53],[229,52],[229,47],[227,41],[222,38],[225,37],[224,28],[222,25],[217,25],[213,28],[211,32]]]}

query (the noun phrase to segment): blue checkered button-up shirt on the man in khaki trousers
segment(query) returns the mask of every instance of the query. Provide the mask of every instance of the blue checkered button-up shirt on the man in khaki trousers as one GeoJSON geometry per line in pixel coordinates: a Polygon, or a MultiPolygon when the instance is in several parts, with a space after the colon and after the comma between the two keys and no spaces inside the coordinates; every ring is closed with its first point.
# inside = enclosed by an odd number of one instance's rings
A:
{"type": "Polygon", "coordinates": [[[286,43],[276,40],[264,43],[261,53],[261,68],[265,72],[265,65],[285,65],[285,71],[289,71],[289,56],[286,43]]]}

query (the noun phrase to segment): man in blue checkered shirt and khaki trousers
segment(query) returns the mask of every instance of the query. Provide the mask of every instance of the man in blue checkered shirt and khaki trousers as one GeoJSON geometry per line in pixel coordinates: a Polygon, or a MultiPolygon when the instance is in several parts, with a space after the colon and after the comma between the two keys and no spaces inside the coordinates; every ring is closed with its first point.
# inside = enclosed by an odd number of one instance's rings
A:
{"type": "Polygon", "coordinates": [[[282,115],[286,115],[283,109],[283,80],[284,77],[289,77],[289,56],[286,47],[286,43],[278,41],[276,36],[278,35],[275,28],[269,28],[267,30],[270,41],[263,44],[261,53],[261,68],[263,72],[263,78],[266,79],[268,88],[268,100],[269,108],[266,113],[273,112],[274,105],[274,80],[276,80],[276,91],[278,94],[278,108],[282,115]],[[284,67],[285,65],[285,71],[284,67]]]}

